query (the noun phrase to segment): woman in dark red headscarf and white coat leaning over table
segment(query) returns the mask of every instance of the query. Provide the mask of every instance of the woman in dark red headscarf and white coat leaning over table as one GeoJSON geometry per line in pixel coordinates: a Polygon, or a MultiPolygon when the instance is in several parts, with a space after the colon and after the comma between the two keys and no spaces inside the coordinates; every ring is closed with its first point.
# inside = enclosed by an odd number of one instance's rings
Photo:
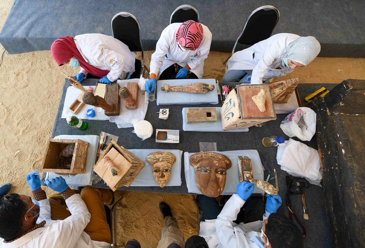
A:
{"type": "Polygon", "coordinates": [[[101,78],[100,83],[110,84],[134,72],[135,54],[123,42],[101,33],[58,38],[51,45],[51,54],[59,66],[81,66],[75,75],[80,83],[88,74],[101,78]]]}

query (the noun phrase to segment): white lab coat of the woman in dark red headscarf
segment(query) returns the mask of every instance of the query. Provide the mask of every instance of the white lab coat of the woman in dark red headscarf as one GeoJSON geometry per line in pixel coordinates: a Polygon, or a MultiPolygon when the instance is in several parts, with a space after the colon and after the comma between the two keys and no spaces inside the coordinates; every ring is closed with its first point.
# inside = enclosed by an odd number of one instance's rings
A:
{"type": "MultiPolygon", "coordinates": [[[[86,33],[75,36],[76,47],[85,61],[94,67],[109,70],[110,81],[125,79],[134,72],[135,54],[128,46],[112,36],[101,33],[86,33]]],[[[84,68],[80,73],[87,75],[84,68]]]]}

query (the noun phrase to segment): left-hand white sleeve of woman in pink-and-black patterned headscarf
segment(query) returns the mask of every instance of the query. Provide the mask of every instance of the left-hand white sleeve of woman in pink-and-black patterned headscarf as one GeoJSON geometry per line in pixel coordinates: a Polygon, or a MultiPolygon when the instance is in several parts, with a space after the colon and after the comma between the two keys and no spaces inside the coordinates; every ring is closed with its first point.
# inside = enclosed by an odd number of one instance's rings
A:
{"type": "Polygon", "coordinates": [[[165,28],[161,33],[160,39],[157,41],[156,51],[151,56],[150,75],[154,73],[158,76],[162,63],[165,59],[165,55],[170,48],[170,35],[168,31],[169,29],[165,28]]]}

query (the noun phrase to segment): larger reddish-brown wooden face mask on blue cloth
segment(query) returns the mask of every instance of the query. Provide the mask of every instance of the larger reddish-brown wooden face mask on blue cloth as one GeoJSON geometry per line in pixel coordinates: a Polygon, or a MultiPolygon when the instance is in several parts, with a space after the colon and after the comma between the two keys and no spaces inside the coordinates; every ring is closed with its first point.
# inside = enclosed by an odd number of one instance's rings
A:
{"type": "Polygon", "coordinates": [[[227,156],[200,152],[190,156],[190,165],[195,168],[195,181],[203,195],[217,197],[222,193],[227,170],[232,166],[227,156]]]}

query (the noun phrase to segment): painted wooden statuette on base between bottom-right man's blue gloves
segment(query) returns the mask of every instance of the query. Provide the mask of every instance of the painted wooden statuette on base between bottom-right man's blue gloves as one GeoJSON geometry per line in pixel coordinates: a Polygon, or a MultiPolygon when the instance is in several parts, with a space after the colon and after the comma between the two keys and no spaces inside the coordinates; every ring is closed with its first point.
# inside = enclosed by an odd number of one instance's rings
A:
{"type": "Polygon", "coordinates": [[[250,182],[269,195],[276,195],[278,193],[276,188],[269,182],[253,179],[252,162],[248,157],[238,156],[238,170],[240,182],[250,182]]]}

